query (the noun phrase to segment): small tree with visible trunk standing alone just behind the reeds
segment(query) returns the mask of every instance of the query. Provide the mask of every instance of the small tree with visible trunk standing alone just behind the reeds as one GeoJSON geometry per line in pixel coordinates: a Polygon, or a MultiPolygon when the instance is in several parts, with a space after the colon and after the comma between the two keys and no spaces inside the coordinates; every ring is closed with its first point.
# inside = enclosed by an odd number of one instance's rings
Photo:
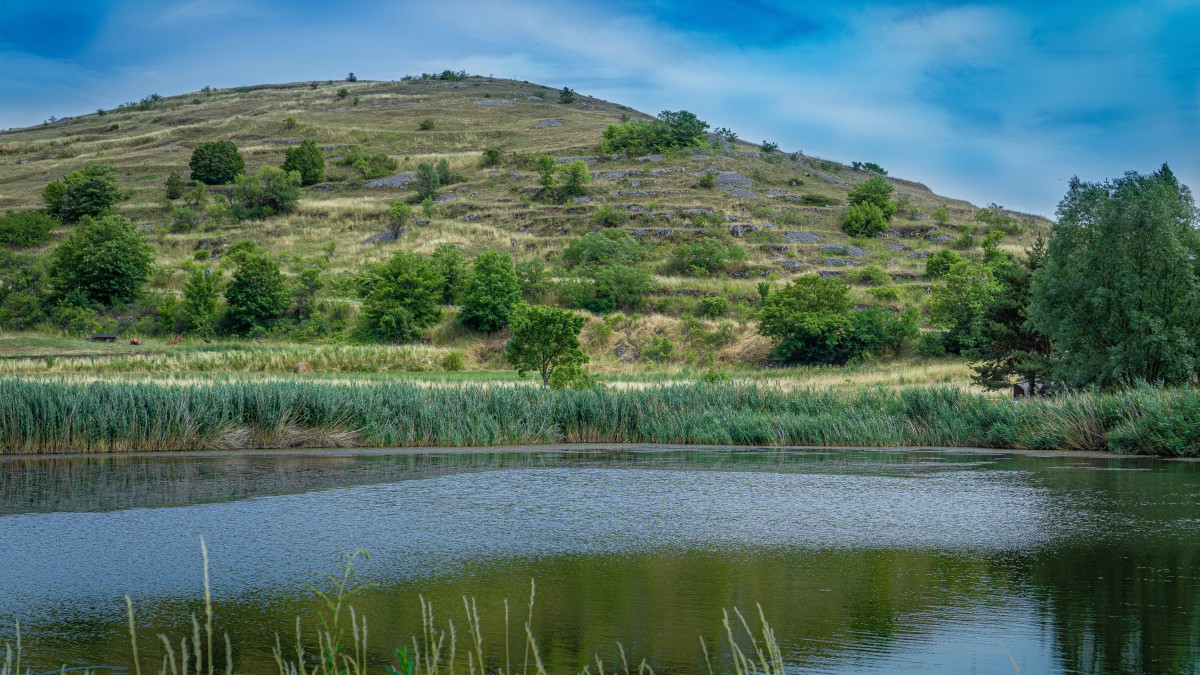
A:
{"type": "Polygon", "coordinates": [[[583,323],[583,317],[566,310],[518,303],[509,316],[512,339],[504,357],[518,376],[536,372],[542,387],[550,387],[563,369],[588,363],[580,346],[583,323]]]}

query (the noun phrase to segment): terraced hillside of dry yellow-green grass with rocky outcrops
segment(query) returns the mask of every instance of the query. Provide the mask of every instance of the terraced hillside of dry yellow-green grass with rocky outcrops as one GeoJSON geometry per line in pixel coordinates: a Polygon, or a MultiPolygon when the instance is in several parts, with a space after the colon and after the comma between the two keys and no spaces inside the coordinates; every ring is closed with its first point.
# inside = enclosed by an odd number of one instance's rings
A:
{"type": "MultiPolygon", "coordinates": [[[[890,232],[851,240],[840,228],[844,202],[871,173],[799,153],[764,154],[744,143],[718,142],[720,149],[672,156],[596,157],[608,125],[619,124],[623,115],[648,115],[587,96],[560,104],[557,94],[529,83],[470,77],[262,85],[148,100],[0,133],[0,213],[40,208],[40,191],[50,180],[84,165],[112,165],[131,193],[116,211],[143,223],[156,247],[158,271],[148,288],[151,297],[178,293],[192,268],[223,265],[221,252],[248,239],[280,256],[286,270],[289,261],[325,258],[323,299],[353,306],[353,275],[396,249],[431,252],[438,244],[456,243],[469,257],[494,247],[518,262],[539,258],[552,275],[562,275],[564,246],[599,227],[590,220],[599,209],[617,208],[630,216],[622,227],[650,251],[647,265],[656,274],[658,288],[646,298],[640,316],[598,319],[584,330],[588,351],[601,368],[646,363],[646,347],[661,335],[679,348],[658,354],[660,362],[764,362],[769,345],[755,333],[750,316],[756,283],[764,279],[779,285],[799,274],[850,273],[854,281],[854,270],[877,265],[890,276],[894,292],[869,292],[871,286],[856,283],[857,303],[920,305],[930,286],[922,279],[923,257],[949,246],[976,223],[972,204],[889,178],[893,197],[904,205],[890,232]],[[344,97],[338,96],[343,88],[344,97]],[[432,129],[421,130],[422,120],[432,120],[432,129]],[[253,172],[278,166],[284,151],[304,138],[320,145],[328,177],[304,189],[295,213],[265,221],[210,219],[187,231],[173,226],[163,183],[172,171],[187,177],[196,144],[234,141],[247,172],[253,172]],[[336,166],[352,148],[386,153],[398,162],[400,174],[444,159],[466,181],[442,190],[443,201],[430,222],[410,227],[394,243],[364,244],[386,229],[389,204],[410,197],[413,190],[373,189],[353,168],[336,166]],[[481,167],[485,148],[503,151],[500,166],[481,167]],[[588,157],[593,177],[588,201],[534,201],[538,177],[529,159],[541,154],[588,157]],[[720,174],[716,187],[697,184],[707,171],[720,174]],[[948,209],[948,222],[935,223],[931,214],[938,207],[948,209]],[[662,274],[670,251],[702,234],[738,243],[748,259],[710,277],[662,274]],[[696,299],[708,294],[730,300],[726,318],[685,319],[696,299]]],[[[1049,226],[1016,215],[1026,228],[1024,240],[1013,234],[1003,243],[1014,252],[1049,226]]],[[[55,240],[65,232],[55,232],[55,240]]],[[[497,339],[466,334],[450,318],[431,333],[430,341],[464,351],[468,368],[498,363],[497,339]]]]}

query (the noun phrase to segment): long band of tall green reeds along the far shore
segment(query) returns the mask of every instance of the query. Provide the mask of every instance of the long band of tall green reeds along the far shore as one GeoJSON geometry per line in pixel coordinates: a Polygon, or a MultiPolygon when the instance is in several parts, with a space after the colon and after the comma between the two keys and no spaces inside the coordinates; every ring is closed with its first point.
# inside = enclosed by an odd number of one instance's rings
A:
{"type": "Polygon", "coordinates": [[[366,381],[0,378],[0,452],[569,442],[980,447],[1195,456],[1200,390],[1010,401],[958,388],[756,383],[542,390],[366,381]]]}

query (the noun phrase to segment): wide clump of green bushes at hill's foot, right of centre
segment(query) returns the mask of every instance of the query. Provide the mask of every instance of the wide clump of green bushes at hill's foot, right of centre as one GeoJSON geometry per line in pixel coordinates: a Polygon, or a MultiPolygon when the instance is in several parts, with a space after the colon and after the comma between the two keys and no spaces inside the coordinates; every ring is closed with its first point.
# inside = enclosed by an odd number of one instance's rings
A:
{"type": "Polygon", "coordinates": [[[916,339],[918,327],[914,311],[854,310],[845,281],[804,275],[763,300],[758,333],[785,362],[844,364],[898,352],[916,339]]]}

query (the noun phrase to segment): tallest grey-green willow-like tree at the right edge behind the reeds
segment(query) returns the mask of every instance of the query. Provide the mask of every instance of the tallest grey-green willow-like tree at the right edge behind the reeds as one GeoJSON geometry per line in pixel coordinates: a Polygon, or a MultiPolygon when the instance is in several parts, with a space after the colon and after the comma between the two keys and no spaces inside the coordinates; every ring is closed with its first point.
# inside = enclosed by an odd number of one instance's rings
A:
{"type": "Polygon", "coordinates": [[[1200,363],[1200,238],[1192,192],[1166,165],[1105,183],[1070,180],[1030,325],[1072,387],[1188,381],[1200,363]]]}

